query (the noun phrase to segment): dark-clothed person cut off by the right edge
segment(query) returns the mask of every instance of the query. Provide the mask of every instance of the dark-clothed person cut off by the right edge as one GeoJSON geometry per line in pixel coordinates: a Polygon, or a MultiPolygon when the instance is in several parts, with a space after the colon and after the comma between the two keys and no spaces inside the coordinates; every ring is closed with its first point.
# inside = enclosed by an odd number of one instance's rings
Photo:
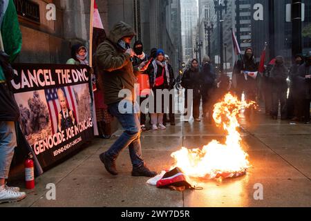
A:
{"type": "Polygon", "coordinates": [[[302,89],[302,120],[310,124],[310,102],[311,102],[311,55],[305,57],[305,63],[298,68],[298,80],[302,89]]]}

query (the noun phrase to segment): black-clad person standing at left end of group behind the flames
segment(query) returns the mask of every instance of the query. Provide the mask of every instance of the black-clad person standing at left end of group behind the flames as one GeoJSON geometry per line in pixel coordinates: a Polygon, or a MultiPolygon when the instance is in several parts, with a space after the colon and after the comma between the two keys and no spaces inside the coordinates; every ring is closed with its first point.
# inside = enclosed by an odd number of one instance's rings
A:
{"type": "MultiPolygon", "coordinates": [[[[193,91],[193,117],[196,122],[200,122],[200,90],[202,86],[201,74],[199,70],[199,64],[197,59],[192,59],[191,67],[185,70],[184,75],[182,76],[182,87],[186,90],[193,91]]],[[[187,91],[185,92],[187,94],[187,91]]],[[[190,108],[185,102],[185,108],[190,108]]],[[[189,111],[188,110],[188,111],[189,111]]]]}

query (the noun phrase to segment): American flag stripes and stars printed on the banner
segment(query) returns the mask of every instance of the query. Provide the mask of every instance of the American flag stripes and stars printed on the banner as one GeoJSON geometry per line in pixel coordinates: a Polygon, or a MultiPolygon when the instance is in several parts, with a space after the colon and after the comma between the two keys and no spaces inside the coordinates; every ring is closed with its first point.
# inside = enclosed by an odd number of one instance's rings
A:
{"type": "MultiPolygon", "coordinates": [[[[48,112],[50,113],[50,122],[52,127],[52,133],[57,133],[57,125],[58,125],[58,114],[61,111],[61,107],[59,105],[57,90],[59,88],[49,88],[44,89],[44,93],[46,94],[46,103],[48,104],[48,112]]],[[[77,99],[75,97],[75,93],[73,92],[73,88],[70,86],[66,86],[61,88],[66,96],[67,108],[73,111],[73,115],[77,122],[79,122],[77,116],[77,99]]]]}

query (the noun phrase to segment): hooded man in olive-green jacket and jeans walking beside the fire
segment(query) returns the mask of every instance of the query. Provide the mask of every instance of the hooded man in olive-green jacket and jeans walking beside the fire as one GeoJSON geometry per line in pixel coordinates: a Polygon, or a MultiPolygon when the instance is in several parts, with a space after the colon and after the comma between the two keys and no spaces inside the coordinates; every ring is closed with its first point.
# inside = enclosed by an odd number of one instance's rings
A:
{"type": "Polygon", "coordinates": [[[117,117],[124,128],[124,132],[111,148],[100,154],[100,160],[109,173],[117,175],[115,160],[120,152],[129,146],[133,164],[132,175],[153,177],[157,173],[150,171],[142,159],[139,111],[134,111],[136,76],[147,69],[147,62],[142,62],[140,66],[132,65],[134,52],[129,44],[134,36],[133,28],[120,21],[112,28],[106,41],[97,48],[96,62],[102,70],[105,102],[111,115],[117,117]],[[129,92],[129,96],[119,95],[121,90],[129,92]]]}

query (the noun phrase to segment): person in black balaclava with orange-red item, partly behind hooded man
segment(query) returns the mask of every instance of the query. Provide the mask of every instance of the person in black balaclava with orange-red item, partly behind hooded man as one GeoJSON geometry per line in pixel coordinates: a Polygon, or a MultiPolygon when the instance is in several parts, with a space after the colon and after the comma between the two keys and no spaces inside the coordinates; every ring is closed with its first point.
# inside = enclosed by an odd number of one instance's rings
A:
{"type": "MultiPolygon", "coordinates": [[[[139,66],[144,61],[148,61],[147,55],[144,53],[144,48],[142,45],[142,41],[138,40],[135,41],[133,50],[135,52],[134,58],[133,58],[133,66],[139,66]]],[[[146,101],[148,99],[148,95],[142,95],[142,90],[147,89],[143,88],[143,86],[149,85],[148,80],[148,73],[143,72],[141,75],[138,75],[138,84],[140,84],[140,104],[142,102],[146,101]]],[[[145,110],[144,110],[145,111],[145,110]]],[[[143,110],[140,110],[140,128],[142,128],[142,131],[146,131],[146,113],[143,113],[143,110]]]]}

